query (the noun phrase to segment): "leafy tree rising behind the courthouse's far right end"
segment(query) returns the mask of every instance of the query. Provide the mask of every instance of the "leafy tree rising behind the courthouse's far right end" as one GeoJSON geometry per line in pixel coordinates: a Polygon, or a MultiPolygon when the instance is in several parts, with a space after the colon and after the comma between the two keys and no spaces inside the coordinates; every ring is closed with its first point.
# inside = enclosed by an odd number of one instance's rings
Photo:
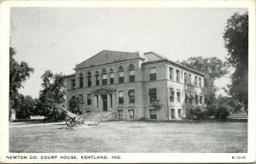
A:
{"type": "Polygon", "coordinates": [[[216,57],[202,58],[190,57],[181,62],[182,65],[188,66],[195,71],[200,71],[205,74],[204,88],[205,88],[205,103],[212,105],[216,99],[216,91],[218,88],[214,85],[214,81],[227,74],[227,64],[216,57]]]}

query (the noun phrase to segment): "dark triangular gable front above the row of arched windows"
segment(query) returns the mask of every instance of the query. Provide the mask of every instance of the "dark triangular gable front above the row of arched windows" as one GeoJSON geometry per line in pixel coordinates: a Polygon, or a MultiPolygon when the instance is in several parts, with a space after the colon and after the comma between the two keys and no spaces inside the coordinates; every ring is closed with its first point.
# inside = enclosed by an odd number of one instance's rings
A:
{"type": "Polygon", "coordinates": [[[105,65],[114,62],[124,61],[127,59],[144,59],[142,54],[139,52],[121,52],[121,51],[111,51],[111,50],[102,50],[100,53],[95,54],[86,59],[83,62],[76,65],[75,70],[88,68],[96,65],[105,65]]]}

